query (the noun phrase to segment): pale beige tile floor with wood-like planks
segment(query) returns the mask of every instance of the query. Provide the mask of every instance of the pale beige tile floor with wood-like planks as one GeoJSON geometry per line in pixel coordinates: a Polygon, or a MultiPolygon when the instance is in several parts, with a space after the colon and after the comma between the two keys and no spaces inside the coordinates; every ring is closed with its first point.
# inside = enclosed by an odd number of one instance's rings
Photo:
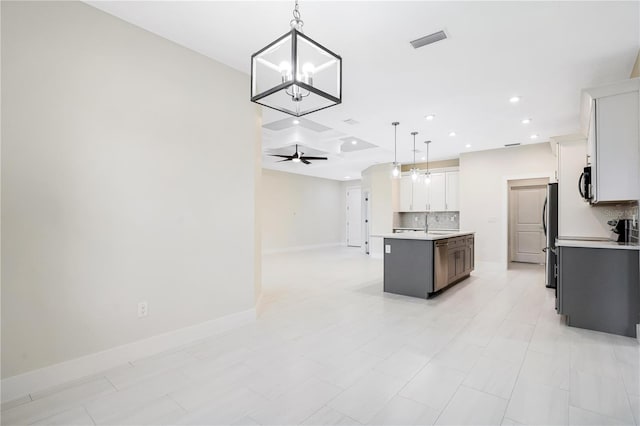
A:
{"type": "Polygon", "coordinates": [[[539,266],[431,300],[335,248],[264,258],[258,320],[3,404],[2,424],[640,424],[635,339],[566,327],[539,266]]]}

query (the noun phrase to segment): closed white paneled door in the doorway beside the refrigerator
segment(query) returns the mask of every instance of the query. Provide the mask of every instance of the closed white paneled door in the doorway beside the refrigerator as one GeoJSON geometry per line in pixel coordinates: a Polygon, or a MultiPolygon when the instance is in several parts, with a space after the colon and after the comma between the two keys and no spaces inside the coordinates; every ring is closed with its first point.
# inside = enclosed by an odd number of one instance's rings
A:
{"type": "Polygon", "coordinates": [[[510,193],[510,239],[513,262],[544,263],[542,209],[545,186],[512,187],[510,193]]]}

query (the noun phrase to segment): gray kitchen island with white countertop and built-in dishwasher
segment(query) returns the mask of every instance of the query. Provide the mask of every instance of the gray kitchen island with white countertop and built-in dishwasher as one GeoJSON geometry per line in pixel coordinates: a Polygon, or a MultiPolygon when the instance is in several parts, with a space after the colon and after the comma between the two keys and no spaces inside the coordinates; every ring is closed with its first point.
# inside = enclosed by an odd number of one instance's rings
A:
{"type": "Polygon", "coordinates": [[[469,277],[473,232],[403,232],[384,239],[384,291],[429,298],[469,277]]]}

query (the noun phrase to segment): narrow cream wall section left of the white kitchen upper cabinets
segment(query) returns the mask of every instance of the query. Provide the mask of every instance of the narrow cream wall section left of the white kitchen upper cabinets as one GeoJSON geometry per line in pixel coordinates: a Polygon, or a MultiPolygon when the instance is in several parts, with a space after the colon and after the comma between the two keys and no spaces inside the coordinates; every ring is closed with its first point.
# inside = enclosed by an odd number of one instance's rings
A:
{"type": "MultiPolygon", "coordinates": [[[[391,165],[378,164],[362,172],[362,192],[369,191],[370,204],[370,234],[380,235],[393,232],[393,212],[397,204],[398,180],[391,179],[391,165]]],[[[364,233],[363,233],[364,235],[364,233]]],[[[383,240],[380,237],[370,237],[369,253],[372,257],[383,257],[383,240]]]]}

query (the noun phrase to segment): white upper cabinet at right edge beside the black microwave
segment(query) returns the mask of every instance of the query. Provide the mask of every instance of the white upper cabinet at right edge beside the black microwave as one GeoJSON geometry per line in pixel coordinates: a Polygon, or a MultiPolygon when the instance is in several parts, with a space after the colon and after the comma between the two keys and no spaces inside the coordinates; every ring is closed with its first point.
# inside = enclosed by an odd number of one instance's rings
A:
{"type": "Polygon", "coordinates": [[[640,199],[640,79],[584,93],[591,202],[640,199]]]}

